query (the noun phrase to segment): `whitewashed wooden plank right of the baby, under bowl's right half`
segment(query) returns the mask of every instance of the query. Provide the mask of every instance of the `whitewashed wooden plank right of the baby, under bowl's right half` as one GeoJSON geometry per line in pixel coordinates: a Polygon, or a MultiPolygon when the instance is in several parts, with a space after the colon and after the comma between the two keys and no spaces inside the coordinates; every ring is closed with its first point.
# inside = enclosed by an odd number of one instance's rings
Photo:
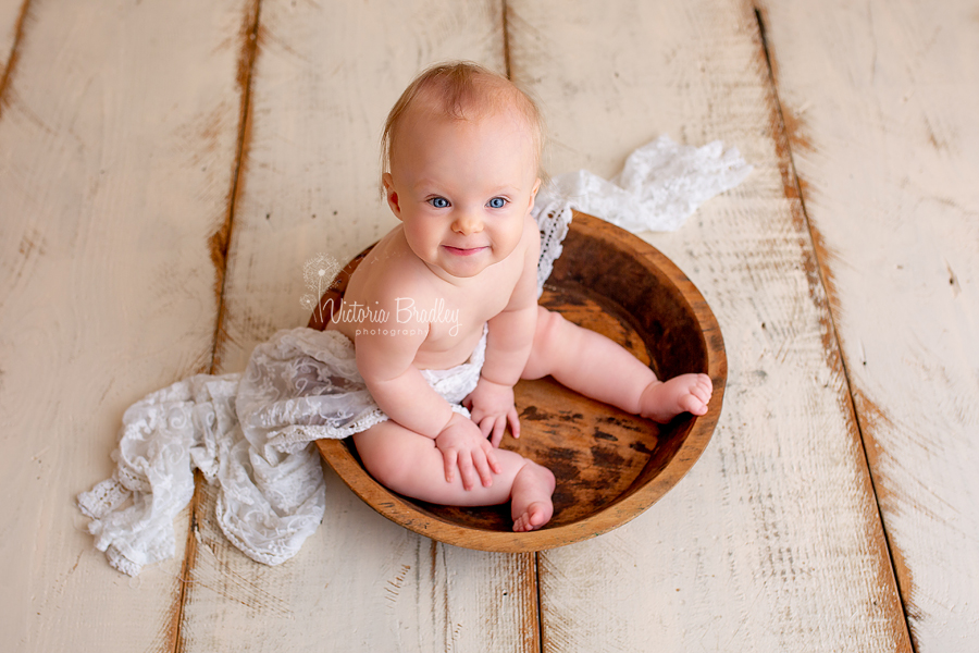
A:
{"type": "Polygon", "coordinates": [[[640,518],[541,554],[544,650],[909,651],[753,8],[509,8],[553,172],[609,175],[659,134],[720,138],[755,165],[681,231],[647,234],[724,334],[711,444],[640,518]]]}

